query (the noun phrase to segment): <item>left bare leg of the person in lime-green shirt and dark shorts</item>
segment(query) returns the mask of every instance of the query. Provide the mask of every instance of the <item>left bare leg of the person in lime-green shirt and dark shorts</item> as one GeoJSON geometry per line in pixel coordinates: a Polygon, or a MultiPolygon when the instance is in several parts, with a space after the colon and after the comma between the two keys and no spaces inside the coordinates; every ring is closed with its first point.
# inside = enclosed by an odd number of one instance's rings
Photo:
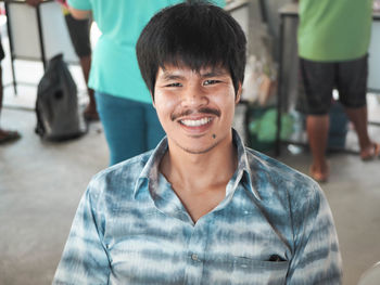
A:
{"type": "Polygon", "coordinates": [[[313,156],[311,174],[319,182],[327,181],[329,167],[326,159],[326,148],[329,132],[329,116],[307,116],[306,130],[313,156]]]}

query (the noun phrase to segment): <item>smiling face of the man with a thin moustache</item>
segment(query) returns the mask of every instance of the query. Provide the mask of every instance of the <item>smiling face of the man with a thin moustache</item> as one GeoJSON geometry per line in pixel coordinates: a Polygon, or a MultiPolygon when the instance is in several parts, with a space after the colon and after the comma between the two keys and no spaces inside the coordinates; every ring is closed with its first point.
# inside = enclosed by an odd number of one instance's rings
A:
{"type": "Polygon", "coordinates": [[[231,142],[236,95],[229,72],[224,67],[166,66],[159,68],[154,107],[167,134],[169,147],[201,154],[231,142]]]}

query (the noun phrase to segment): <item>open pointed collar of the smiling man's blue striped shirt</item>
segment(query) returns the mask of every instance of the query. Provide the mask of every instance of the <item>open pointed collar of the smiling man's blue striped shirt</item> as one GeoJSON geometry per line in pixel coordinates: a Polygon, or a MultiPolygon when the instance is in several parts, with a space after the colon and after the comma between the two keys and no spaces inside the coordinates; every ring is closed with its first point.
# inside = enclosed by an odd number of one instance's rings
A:
{"type": "MultiPolygon", "coordinates": [[[[238,187],[239,183],[241,182],[243,183],[244,187],[248,191],[252,192],[257,199],[261,199],[257,191],[252,186],[252,172],[251,172],[251,167],[248,159],[246,150],[244,147],[244,144],[240,135],[235,129],[232,129],[232,141],[238,151],[238,168],[232,179],[227,185],[226,196],[229,195],[230,193],[233,193],[235,190],[238,187]]],[[[138,193],[142,189],[144,189],[145,183],[154,183],[155,185],[157,185],[159,174],[160,174],[159,173],[160,163],[166,152],[167,152],[167,138],[165,137],[159,143],[159,145],[154,148],[145,166],[143,167],[137,180],[137,183],[135,185],[135,191],[134,191],[135,197],[138,195],[138,193]]],[[[154,189],[154,186],[152,189],[154,189]]],[[[151,195],[154,198],[154,193],[151,193],[151,195]]]]}

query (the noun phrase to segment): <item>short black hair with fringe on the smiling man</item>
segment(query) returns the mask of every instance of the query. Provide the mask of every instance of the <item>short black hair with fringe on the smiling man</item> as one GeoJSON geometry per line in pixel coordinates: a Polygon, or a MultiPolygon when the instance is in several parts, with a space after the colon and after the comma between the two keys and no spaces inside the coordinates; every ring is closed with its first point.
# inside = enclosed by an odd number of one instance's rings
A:
{"type": "Polygon", "coordinates": [[[245,35],[223,9],[205,1],[188,1],[155,14],[142,30],[136,53],[140,72],[154,95],[159,67],[165,65],[225,67],[236,92],[244,80],[245,35]]]}

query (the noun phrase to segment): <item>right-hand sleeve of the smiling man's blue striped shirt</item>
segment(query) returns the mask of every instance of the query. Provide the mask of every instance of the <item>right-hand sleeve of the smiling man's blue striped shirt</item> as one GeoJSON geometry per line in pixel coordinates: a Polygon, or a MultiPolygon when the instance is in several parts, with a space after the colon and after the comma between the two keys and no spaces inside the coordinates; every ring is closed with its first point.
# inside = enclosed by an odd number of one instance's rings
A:
{"type": "Polygon", "coordinates": [[[314,189],[304,198],[305,203],[292,205],[296,208],[292,218],[294,252],[287,284],[342,283],[342,259],[332,213],[320,187],[314,189]]]}

